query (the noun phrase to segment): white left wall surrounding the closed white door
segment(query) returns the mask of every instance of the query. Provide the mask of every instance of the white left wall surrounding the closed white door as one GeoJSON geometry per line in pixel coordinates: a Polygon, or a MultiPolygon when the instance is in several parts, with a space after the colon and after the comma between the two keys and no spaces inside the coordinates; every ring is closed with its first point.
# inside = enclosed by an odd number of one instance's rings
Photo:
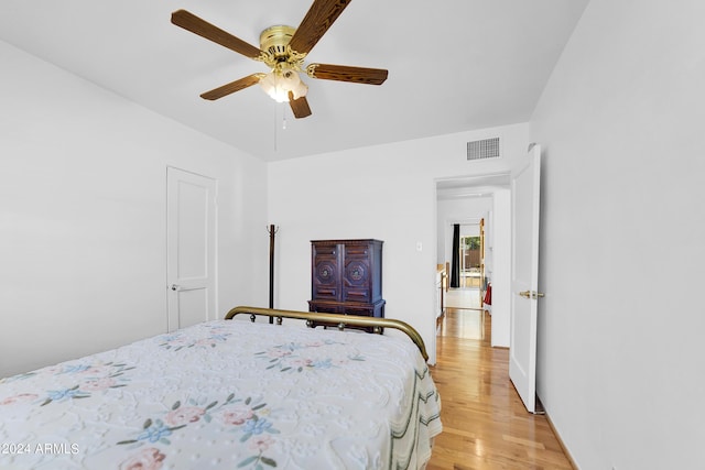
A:
{"type": "Polygon", "coordinates": [[[0,57],[0,376],[166,330],[167,165],[218,179],[220,314],[264,302],[265,164],[2,42],[0,57]]]}

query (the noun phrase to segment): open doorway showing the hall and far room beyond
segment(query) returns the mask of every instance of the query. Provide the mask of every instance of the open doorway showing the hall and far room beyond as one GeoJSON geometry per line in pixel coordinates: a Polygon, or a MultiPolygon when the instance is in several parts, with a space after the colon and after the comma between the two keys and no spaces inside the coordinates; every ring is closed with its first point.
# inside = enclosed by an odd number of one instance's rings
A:
{"type": "MultiPolygon", "coordinates": [[[[508,275],[510,272],[510,247],[507,239],[510,227],[506,222],[509,216],[509,175],[495,174],[484,176],[456,177],[436,181],[436,232],[438,241],[438,270],[448,273],[448,289],[444,293],[443,311],[452,314],[456,327],[454,332],[443,329],[443,321],[436,321],[437,334],[453,335],[468,339],[482,339],[492,346],[506,347],[509,338],[508,275]],[[463,230],[465,255],[458,252],[463,275],[462,281],[451,288],[449,261],[454,253],[454,226],[458,223],[465,229],[474,227],[474,232],[463,230]],[[482,231],[482,237],[480,237],[482,231]],[[479,250],[484,256],[479,262],[473,251],[477,251],[477,237],[480,237],[479,250]],[[482,303],[484,294],[492,284],[491,321],[487,305],[482,303]],[[496,285],[495,285],[496,284],[496,285]],[[496,288],[499,287],[499,288],[496,288]],[[506,298],[505,298],[506,297],[506,298]],[[494,308],[498,307],[498,308],[494,308]],[[489,327],[489,328],[488,328],[489,327]]],[[[477,253],[480,254],[480,253],[477,253]]],[[[447,324],[447,323],[446,323],[447,324]]]]}

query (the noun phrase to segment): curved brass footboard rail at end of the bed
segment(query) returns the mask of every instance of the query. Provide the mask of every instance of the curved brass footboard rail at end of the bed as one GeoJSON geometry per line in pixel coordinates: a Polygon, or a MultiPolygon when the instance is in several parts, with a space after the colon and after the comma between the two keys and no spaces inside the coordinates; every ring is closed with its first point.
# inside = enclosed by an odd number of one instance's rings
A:
{"type": "Polygon", "coordinates": [[[249,314],[250,319],[254,321],[256,316],[274,317],[276,318],[276,325],[282,324],[282,318],[294,318],[299,320],[305,320],[308,327],[313,327],[315,323],[326,323],[337,325],[338,329],[343,330],[347,326],[354,327],[371,327],[373,332],[382,334],[384,328],[392,328],[404,332],[419,348],[421,356],[424,360],[429,360],[426,353],[426,346],[423,342],[423,338],[419,335],[411,325],[395,320],[392,318],[376,318],[364,317],[358,315],[336,315],[324,314],[319,311],[299,311],[299,310],[280,310],[276,308],[261,308],[261,307],[247,307],[239,306],[232,308],[225,316],[226,320],[232,319],[236,315],[249,314]]]}

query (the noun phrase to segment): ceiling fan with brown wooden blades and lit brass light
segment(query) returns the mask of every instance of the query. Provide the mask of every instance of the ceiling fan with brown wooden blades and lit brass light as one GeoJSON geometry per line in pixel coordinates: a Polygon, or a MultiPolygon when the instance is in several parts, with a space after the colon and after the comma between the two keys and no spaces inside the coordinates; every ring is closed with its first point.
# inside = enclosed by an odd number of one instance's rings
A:
{"type": "Polygon", "coordinates": [[[350,1],[314,0],[297,29],[275,25],[262,31],[259,48],[186,10],[173,12],[172,23],[246,57],[263,62],[271,69],[269,74],[248,75],[206,91],[200,95],[202,98],[215,100],[260,84],[264,91],[276,101],[289,101],[296,118],[305,118],[311,116],[311,108],[306,100],[308,87],[299,77],[300,72],[305,72],[311,78],[368,85],[381,85],[387,79],[388,72],[381,68],[332,64],[310,64],[304,66],[306,55],[350,1]]]}

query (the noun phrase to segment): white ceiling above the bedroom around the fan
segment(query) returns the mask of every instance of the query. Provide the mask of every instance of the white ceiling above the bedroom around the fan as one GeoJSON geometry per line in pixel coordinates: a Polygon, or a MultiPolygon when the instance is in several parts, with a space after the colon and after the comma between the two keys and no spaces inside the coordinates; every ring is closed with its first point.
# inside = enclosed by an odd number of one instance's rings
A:
{"type": "Polygon", "coordinates": [[[274,161],[528,121],[587,1],[351,1],[306,64],[387,68],[389,78],[304,77],[313,116],[301,120],[257,86],[199,98],[267,69],[170,18],[186,9],[259,46],[265,28],[299,25],[312,0],[2,0],[0,40],[274,161]]]}

